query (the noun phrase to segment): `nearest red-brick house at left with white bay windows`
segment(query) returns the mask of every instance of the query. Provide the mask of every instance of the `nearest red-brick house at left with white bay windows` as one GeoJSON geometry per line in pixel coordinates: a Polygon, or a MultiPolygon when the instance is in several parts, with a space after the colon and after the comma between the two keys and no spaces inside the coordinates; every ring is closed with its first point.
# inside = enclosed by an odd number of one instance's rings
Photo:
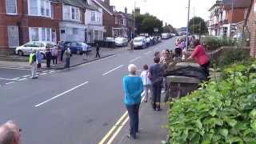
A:
{"type": "Polygon", "coordinates": [[[29,41],[57,42],[62,4],[56,0],[2,0],[0,19],[0,52],[29,41]]]}

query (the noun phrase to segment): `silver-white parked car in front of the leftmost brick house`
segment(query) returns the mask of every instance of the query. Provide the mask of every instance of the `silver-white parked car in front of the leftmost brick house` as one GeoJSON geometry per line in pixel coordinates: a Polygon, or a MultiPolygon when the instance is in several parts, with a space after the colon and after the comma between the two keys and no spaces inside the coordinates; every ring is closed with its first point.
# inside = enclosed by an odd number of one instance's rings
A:
{"type": "Polygon", "coordinates": [[[29,55],[33,52],[33,50],[39,50],[40,53],[43,55],[43,58],[46,56],[46,45],[49,45],[51,48],[54,48],[56,44],[54,42],[27,42],[22,46],[18,46],[15,49],[15,54],[20,56],[22,55],[29,55]]]}

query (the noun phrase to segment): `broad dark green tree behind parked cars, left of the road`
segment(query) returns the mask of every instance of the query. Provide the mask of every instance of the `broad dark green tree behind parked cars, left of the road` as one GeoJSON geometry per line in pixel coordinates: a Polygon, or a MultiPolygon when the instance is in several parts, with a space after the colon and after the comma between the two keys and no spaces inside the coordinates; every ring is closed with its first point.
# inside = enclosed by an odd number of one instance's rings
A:
{"type": "Polygon", "coordinates": [[[162,32],[162,21],[150,14],[142,14],[136,16],[136,33],[154,34],[154,28],[158,32],[162,32]]]}

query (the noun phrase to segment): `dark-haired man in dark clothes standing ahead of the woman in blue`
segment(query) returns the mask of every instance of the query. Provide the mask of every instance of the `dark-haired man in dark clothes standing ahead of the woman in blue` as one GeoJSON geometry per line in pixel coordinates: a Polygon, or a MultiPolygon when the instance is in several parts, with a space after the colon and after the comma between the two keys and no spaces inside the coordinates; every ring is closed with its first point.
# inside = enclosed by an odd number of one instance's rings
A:
{"type": "Polygon", "coordinates": [[[151,81],[153,86],[153,97],[152,97],[152,108],[154,110],[161,110],[160,102],[161,102],[161,90],[162,90],[162,76],[163,70],[162,66],[159,64],[160,58],[154,58],[154,65],[150,66],[150,74],[151,74],[151,81]]]}

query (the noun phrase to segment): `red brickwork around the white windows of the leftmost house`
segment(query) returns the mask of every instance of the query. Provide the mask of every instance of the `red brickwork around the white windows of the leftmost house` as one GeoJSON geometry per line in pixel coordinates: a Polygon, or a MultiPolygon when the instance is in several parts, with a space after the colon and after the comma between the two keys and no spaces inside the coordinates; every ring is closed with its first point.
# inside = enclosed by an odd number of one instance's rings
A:
{"type": "MultiPolygon", "coordinates": [[[[27,0],[17,1],[17,15],[6,14],[6,1],[0,0],[0,52],[10,50],[8,45],[7,26],[18,26],[19,44],[29,42],[29,27],[49,27],[56,30],[59,40],[58,23],[62,20],[62,4],[51,3],[54,6],[54,19],[28,16],[27,0]]],[[[84,18],[84,16],[82,16],[84,18]]]]}

